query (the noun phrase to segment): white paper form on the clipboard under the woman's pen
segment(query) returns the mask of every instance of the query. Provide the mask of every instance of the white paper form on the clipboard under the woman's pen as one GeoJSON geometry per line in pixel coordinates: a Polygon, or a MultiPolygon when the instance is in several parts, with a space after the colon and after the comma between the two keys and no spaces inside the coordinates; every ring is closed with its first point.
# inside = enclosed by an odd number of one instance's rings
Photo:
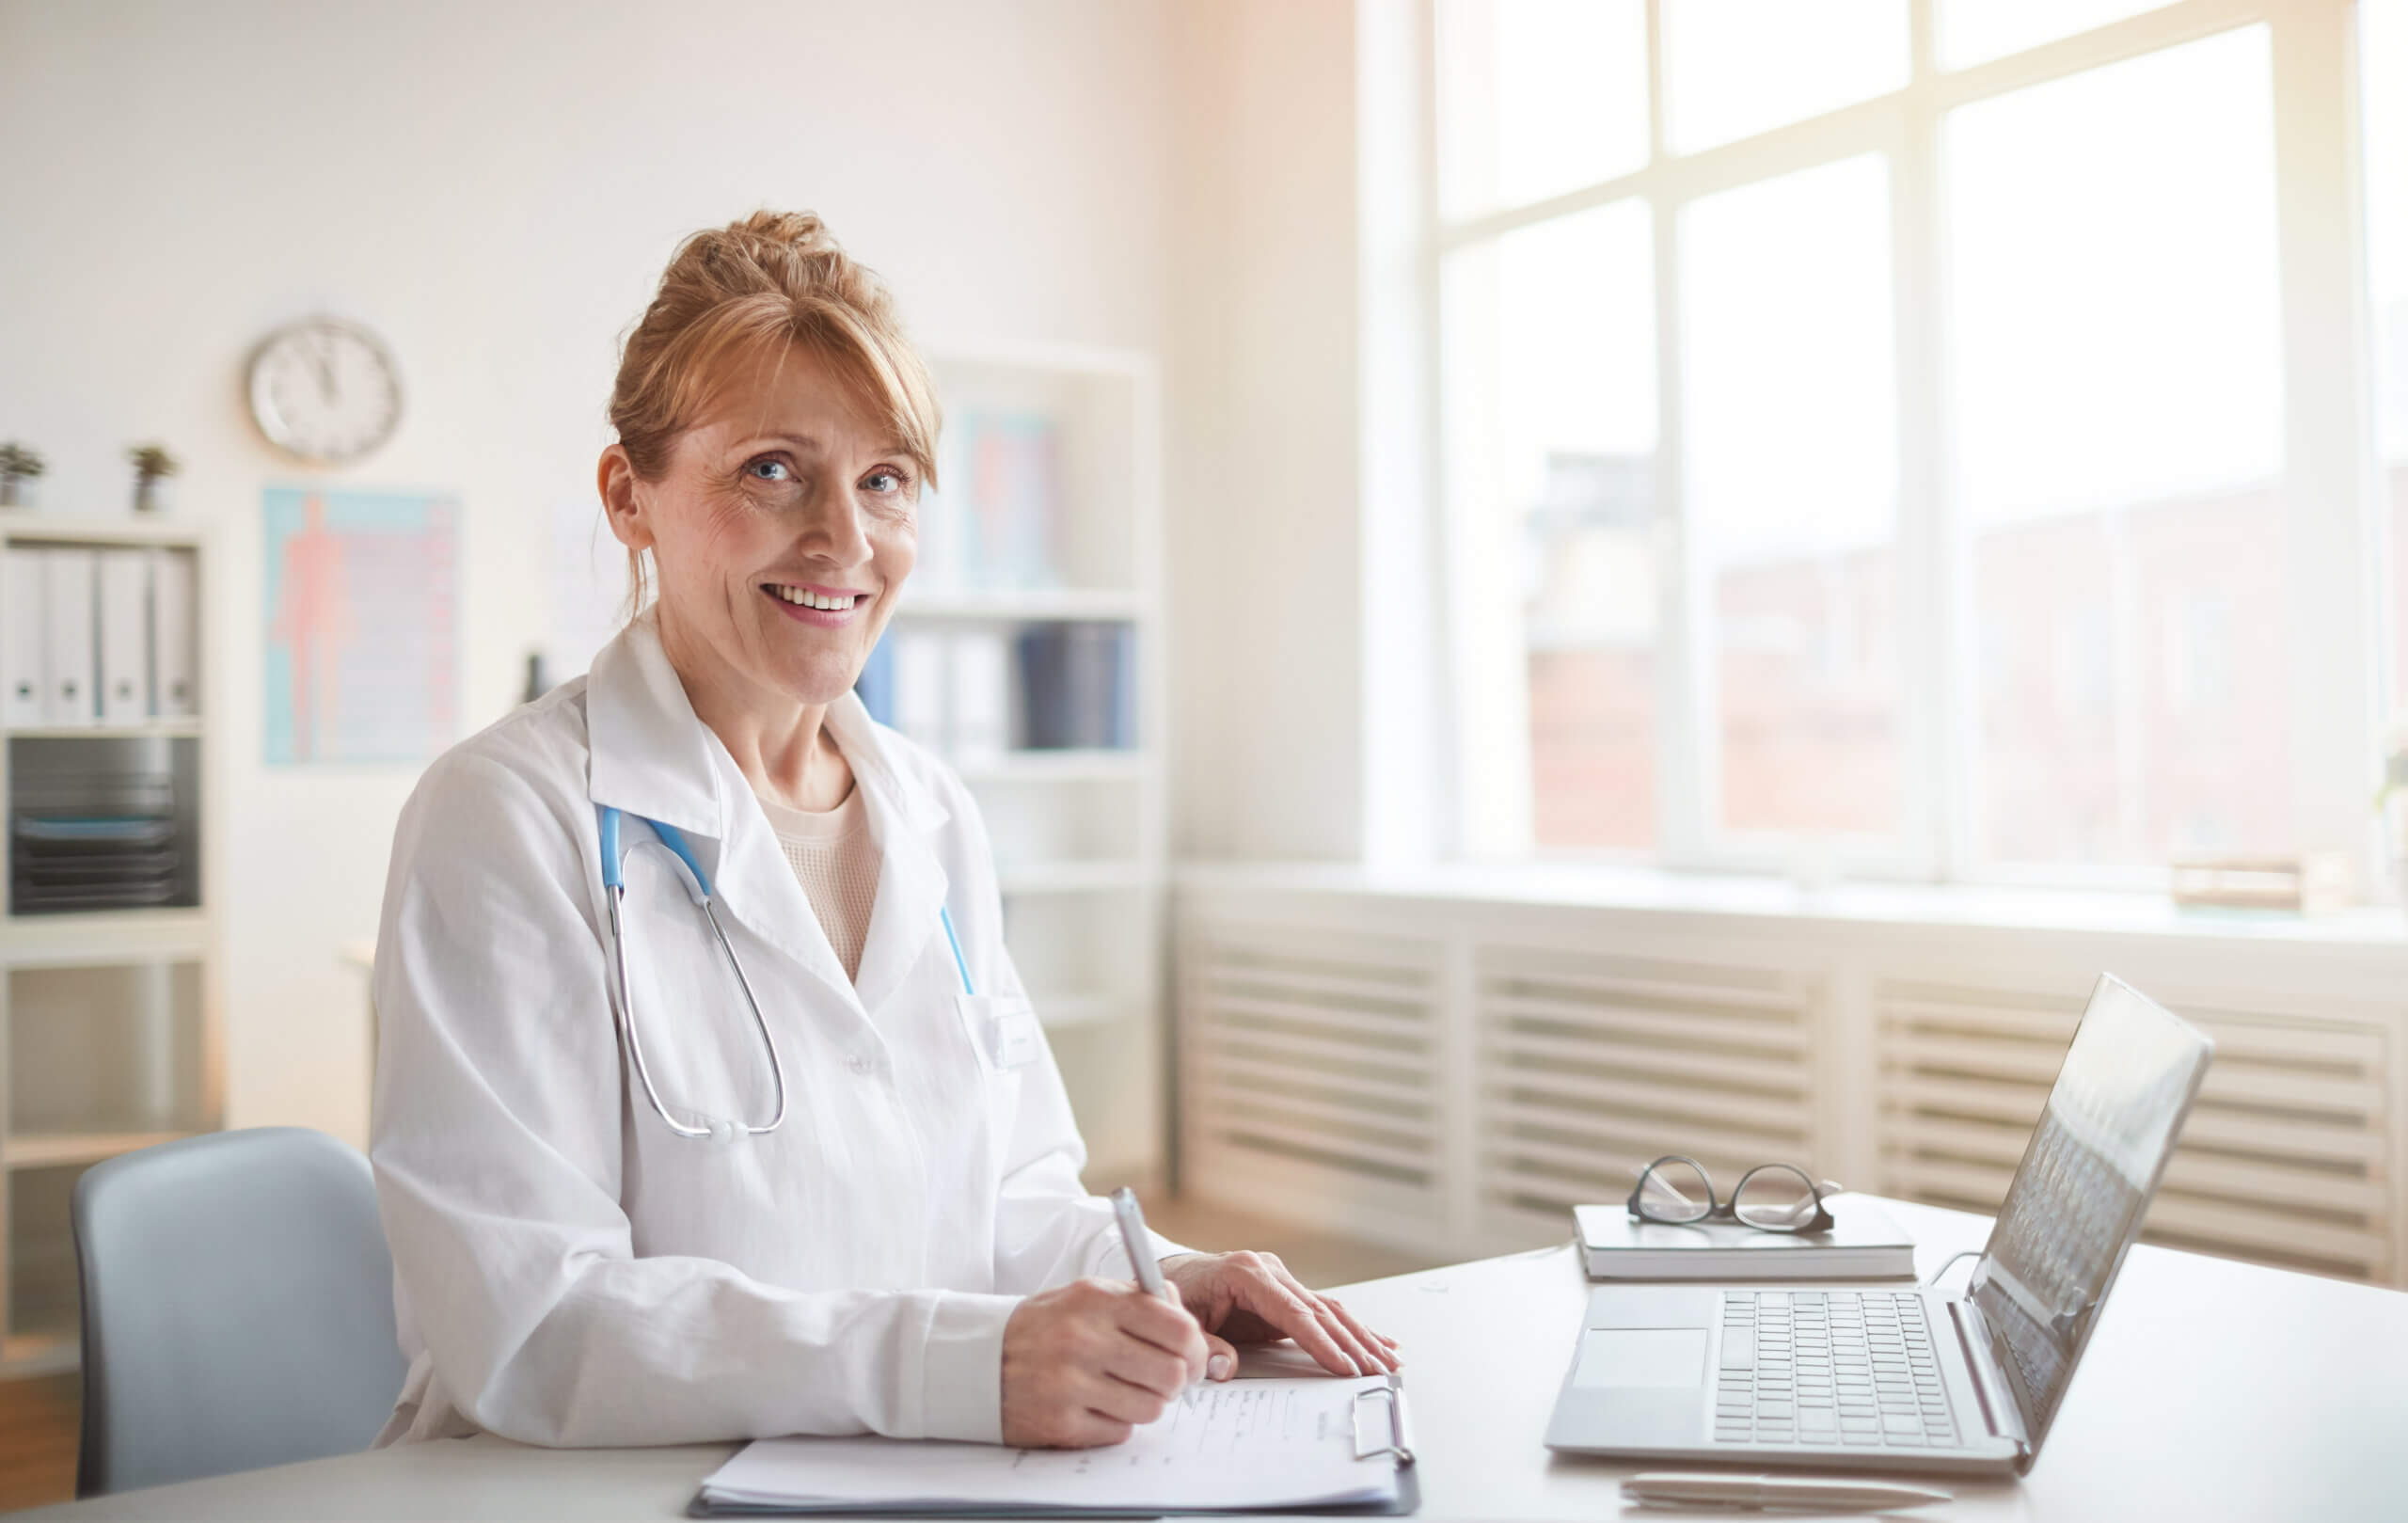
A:
{"type": "Polygon", "coordinates": [[[1197,1511],[1394,1504],[1387,1400],[1361,1381],[1228,1381],[1182,1395],[1110,1448],[999,1448],[901,1439],[759,1439],[703,1482],[713,1509],[1197,1511]]]}

